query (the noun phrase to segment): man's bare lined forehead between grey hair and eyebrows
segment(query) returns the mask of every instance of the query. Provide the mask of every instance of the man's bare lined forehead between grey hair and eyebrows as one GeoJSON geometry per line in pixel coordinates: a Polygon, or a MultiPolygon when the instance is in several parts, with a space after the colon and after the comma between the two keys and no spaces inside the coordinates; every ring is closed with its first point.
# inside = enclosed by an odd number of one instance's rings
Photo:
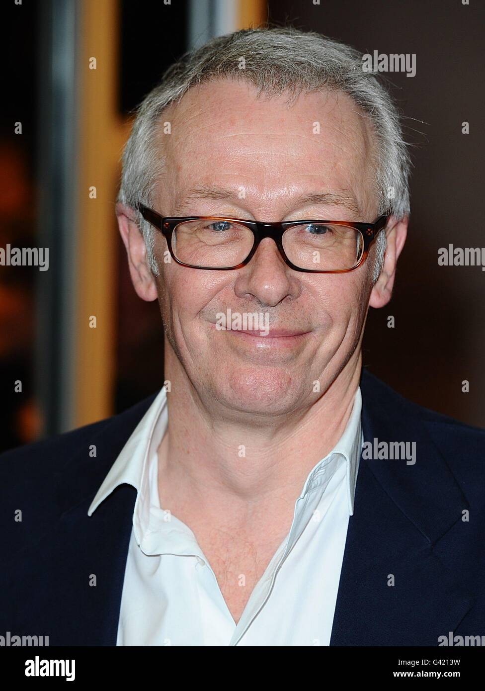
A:
{"type": "Polygon", "coordinates": [[[362,208],[372,186],[374,135],[341,92],[258,97],[252,84],[220,79],[191,88],[165,111],[158,145],[167,162],[164,189],[180,196],[194,184],[278,194],[350,189],[362,208]]]}

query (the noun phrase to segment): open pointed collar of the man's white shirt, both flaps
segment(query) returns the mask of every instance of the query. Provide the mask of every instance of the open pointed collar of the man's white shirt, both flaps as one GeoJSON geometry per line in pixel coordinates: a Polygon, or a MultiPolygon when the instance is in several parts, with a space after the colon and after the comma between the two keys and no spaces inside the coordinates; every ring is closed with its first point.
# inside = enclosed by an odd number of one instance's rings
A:
{"type": "MultiPolygon", "coordinates": [[[[350,515],[354,513],[354,495],[359,460],[363,444],[361,428],[362,397],[361,390],[357,388],[354,396],[352,413],[345,430],[332,451],[319,461],[307,476],[300,498],[310,493],[321,484],[327,484],[329,473],[325,480],[323,471],[332,470],[331,464],[335,455],[343,458],[346,465],[345,485],[348,498],[348,510],[350,515]]],[[[120,484],[131,484],[137,490],[137,499],[133,512],[133,528],[138,544],[142,540],[144,527],[149,525],[151,495],[150,495],[150,463],[156,459],[156,451],[163,439],[168,424],[167,390],[163,386],[157,397],[146,411],[144,417],[133,431],[133,434],[122,448],[108,475],[104,478],[97,491],[88,515],[93,515],[99,504],[120,484]]],[[[153,496],[153,493],[152,493],[153,496]]]]}

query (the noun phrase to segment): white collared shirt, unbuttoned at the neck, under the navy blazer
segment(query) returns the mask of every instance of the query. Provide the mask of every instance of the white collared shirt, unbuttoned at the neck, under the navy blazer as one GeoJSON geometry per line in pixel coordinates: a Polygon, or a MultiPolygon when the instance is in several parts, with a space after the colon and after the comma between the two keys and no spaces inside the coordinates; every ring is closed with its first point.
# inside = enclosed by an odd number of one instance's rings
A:
{"type": "Polygon", "coordinates": [[[354,512],[361,408],[358,388],[343,435],[308,474],[289,533],[236,625],[196,536],[160,508],[157,449],[168,423],[162,387],[88,510],[120,484],[137,489],[117,645],[329,645],[354,512]]]}

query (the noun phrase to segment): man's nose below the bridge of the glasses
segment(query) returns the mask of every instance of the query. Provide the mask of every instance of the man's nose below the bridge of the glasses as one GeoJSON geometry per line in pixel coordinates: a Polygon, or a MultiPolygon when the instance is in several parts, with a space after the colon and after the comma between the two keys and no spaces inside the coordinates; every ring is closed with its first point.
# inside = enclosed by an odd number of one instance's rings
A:
{"type": "Polygon", "coordinates": [[[272,238],[263,238],[251,261],[237,273],[236,295],[254,296],[261,305],[274,307],[286,297],[296,298],[301,293],[296,272],[285,264],[272,238]]]}

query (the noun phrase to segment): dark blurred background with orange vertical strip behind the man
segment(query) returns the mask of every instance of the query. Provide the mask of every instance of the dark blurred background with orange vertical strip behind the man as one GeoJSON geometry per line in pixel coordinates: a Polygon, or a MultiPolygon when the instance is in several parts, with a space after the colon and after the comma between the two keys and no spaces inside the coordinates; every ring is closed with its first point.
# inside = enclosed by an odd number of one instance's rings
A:
{"type": "Polygon", "coordinates": [[[437,265],[439,247],[484,244],[484,3],[23,0],[1,13],[0,248],[48,247],[49,269],[0,265],[0,451],[162,386],[158,305],[135,295],[117,235],[122,146],[169,64],[265,21],[364,53],[415,53],[415,77],[387,75],[414,164],[410,233],[390,305],[370,311],[363,360],[417,403],[485,426],[485,274],[437,265]]]}

